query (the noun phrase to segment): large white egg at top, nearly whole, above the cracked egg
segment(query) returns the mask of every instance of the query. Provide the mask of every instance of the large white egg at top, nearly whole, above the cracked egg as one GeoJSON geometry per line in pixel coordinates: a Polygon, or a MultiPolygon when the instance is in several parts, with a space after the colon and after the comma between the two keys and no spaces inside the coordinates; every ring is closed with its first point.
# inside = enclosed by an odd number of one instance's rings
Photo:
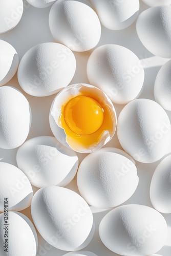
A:
{"type": "Polygon", "coordinates": [[[87,3],[73,0],[54,3],[49,14],[49,26],[56,41],[77,52],[94,48],[101,35],[95,11],[87,3]]]}

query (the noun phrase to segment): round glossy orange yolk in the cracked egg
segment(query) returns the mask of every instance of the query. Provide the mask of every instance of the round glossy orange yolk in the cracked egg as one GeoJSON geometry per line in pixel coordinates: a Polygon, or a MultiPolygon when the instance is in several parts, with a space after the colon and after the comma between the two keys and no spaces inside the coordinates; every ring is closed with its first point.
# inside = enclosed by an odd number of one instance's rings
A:
{"type": "Polygon", "coordinates": [[[72,98],[65,106],[64,118],[70,129],[80,135],[95,133],[103,123],[103,109],[88,96],[72,98]]]}

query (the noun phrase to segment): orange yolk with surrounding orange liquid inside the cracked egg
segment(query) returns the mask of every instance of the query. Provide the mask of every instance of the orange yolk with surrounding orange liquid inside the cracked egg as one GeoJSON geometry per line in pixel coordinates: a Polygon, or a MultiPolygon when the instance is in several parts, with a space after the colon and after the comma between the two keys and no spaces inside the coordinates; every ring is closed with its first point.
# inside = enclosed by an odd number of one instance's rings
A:
{"type": "Polygon", "coordinates": [[[58,124],[65,130],[67,143],[74,150],[80,151],[80,148],[94,148],[102,140],[105,140],[109,134],[113,133],[115,119],[108,103],[102,100],[94,92],[80,92],[79,95],[71,98],[66,104],[61,106],[58,124]],[[80,100],[77,101],[77,98],[80,98],[80,100]],[[73,106],[72,103],[74,102],[76,104],[73,106]],[[93,111],[91,103],[94,105],[93,111]],[[76,113],[73,110],[76,110],[76,113]],[[96,110],[99,111],[98,114],[96,110]],[[95,126],[93,119],[97,121],[95,126]]]}

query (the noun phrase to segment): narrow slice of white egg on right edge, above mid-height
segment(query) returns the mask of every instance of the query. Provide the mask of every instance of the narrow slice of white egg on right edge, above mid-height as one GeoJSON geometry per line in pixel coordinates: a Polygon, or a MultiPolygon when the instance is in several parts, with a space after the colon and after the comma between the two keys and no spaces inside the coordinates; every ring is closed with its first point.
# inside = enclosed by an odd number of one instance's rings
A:
{"type": "Polygon", "coordinates": [[[154,96],[156,101],[165,110],[171,111],[171,60],[167,61],[159,70],[155,86],[154,96]]]}

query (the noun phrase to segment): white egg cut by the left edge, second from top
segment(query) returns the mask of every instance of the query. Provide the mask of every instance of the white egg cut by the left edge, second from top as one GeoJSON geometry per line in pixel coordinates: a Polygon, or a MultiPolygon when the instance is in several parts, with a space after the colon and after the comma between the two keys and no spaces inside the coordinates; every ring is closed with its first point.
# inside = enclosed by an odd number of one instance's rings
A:
{"type": "Polygon", "coordinates": [[[0,40],[0,56],[0,86],[3,86],[15,75],[19,59],[15,49],[4,40],[0,40]]]}

